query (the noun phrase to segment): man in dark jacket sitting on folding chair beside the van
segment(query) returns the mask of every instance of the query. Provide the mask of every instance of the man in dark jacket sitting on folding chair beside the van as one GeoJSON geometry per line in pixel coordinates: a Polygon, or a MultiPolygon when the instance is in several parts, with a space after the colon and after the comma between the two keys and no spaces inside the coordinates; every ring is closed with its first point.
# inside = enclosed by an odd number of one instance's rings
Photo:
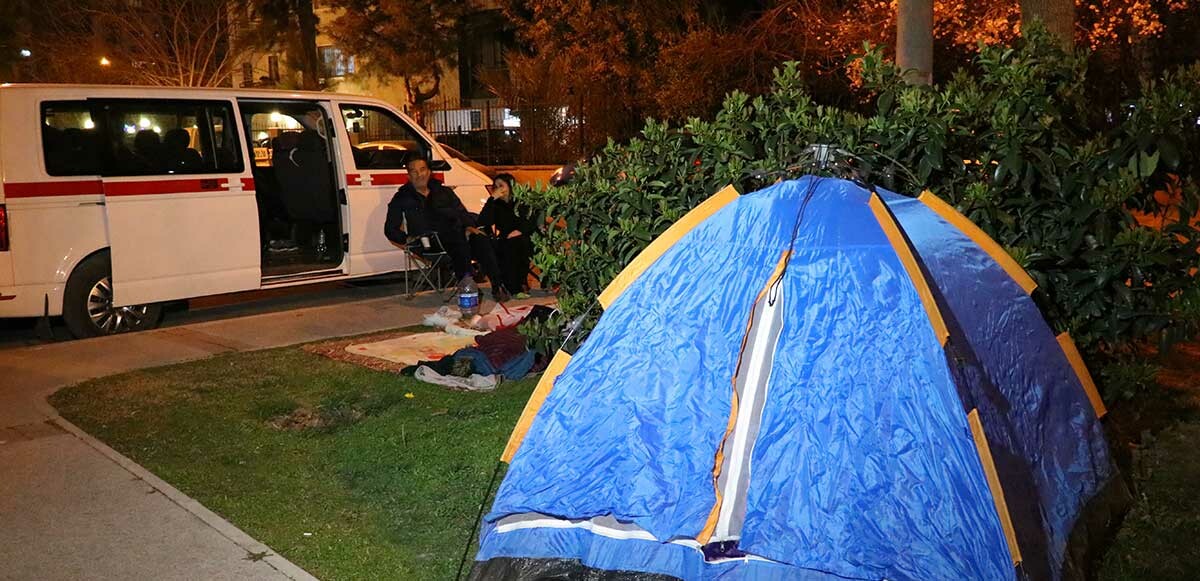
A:
{"type": "Polygon", "coordinates": [[[412,158],[406,167],[408,184],[401,186],[388,203],[388,218],[383,227],[388,240],[420,253],[426,250],[419,242],[420,238],[437,233],[443,250],[450,256],[456,280],[472,274],[470,260],[474,257],[492,281],[496,300],[508,300],[509,293],[504,289],[496,254],[458,197],[433,179],[430,163],[424,158],[412,158]]]}

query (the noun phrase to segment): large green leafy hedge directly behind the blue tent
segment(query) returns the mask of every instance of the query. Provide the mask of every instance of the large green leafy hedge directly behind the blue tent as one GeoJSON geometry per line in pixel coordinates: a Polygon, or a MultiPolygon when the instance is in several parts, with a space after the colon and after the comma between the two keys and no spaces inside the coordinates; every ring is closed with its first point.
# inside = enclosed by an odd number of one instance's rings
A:
{"type": "MultiPolygon", "coordinates": [[[[934,88],[904,84],[870,47],[858,65],[870,115],[815,103],[790,64],[770,94],[733,92],[714,119],[682,127],[647,121],[572,185],[520,192],[554,223],[534,260],[564,313],[587,313],[586,330],[600,290],[689,209],[726,184],[748,192],[811,173],[809,145],[824,143],[852,152],[866,179],[931,190],[971,217],[1033,276],[1048,321],[1093,369],[1194,335],[1200,66],[1098,110],[1086,55],[1036,30],[1014,47],[982,47],[973,72],[934,88]]],[[[554,325],[542,340],[556,340],[554,325]]]]}

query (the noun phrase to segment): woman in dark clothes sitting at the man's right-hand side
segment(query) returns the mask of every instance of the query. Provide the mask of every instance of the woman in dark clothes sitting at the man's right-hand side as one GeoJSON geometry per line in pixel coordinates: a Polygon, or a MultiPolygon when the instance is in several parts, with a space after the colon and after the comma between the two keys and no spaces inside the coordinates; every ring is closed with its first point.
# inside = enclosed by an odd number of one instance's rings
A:
{"type": "Polygon", "coordinates": [[[478,226],[492,239],[496,257],[500,263],[503,281],[492,281],[497,295],[514,294],[517,298],[528,289],[529,257],[533,254],[530,222],[512,200],[515,179],[511,174],[499,174],[492,182],[492,197],[479,212],[478,226]],[[502,286],[503,288],[496,288],[502,286]]]}

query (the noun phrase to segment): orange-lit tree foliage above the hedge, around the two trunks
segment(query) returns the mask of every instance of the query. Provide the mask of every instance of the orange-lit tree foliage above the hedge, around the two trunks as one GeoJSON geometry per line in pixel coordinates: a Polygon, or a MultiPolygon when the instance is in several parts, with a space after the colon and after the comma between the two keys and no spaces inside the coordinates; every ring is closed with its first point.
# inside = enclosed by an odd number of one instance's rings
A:
{"type": "MultiPolygon", "coordinates": [[[[859,78],[847,74],[857,66],[852,56],[864,42],[895,46],[895,4],[887,0],[500,4],[521,47],[509,55],[511,84],[498,92],[529,101],[598,94],[584,100],[589,126],[618,138],[646,116],[712,113],[733,89],[766,92],[785,61],[797,62],[814,96],[860,109],[859,78]],[[565,80],[548,85],[552,73],[565,80]]],[[[1198,13],[1194,0],[1086,0],[1074,17],[1076,44],[1092,50],[1090,66],[1115,76],[1120,90],[1104,96],[1124,98],[1156,71],[1200,56],[1192,38],[1198,13]]],[[[979,43],[1010,43],[1021,34],[1018,1],[935,0],[934,14],[935,79],[976,67],[979,43]]]]}

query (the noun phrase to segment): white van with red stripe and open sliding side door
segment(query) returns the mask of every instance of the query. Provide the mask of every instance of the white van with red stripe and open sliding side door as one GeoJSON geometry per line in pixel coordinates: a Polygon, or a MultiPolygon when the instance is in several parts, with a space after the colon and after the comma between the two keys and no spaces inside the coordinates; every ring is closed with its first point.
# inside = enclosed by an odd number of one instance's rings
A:
{"type": "Polygon", "coordinates": [[[480,210],[486,176],[383,101],[0,85],[0,317],[106,335],[164,301],[407,269],[383,226],[413,156],[480,210]]]}

